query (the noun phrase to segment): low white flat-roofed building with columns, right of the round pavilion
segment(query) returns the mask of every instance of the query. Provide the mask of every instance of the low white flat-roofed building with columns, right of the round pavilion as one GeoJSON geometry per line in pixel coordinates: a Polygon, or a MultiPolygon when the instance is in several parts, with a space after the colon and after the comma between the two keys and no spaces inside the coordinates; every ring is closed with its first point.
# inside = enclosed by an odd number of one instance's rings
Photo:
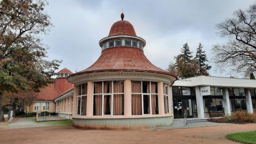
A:
{"type": "Polygon", "coordinates": [[[172,85],[174,118],[221,117],[243,110],[255,113],[256,80],[197,76],[172,85]]]}

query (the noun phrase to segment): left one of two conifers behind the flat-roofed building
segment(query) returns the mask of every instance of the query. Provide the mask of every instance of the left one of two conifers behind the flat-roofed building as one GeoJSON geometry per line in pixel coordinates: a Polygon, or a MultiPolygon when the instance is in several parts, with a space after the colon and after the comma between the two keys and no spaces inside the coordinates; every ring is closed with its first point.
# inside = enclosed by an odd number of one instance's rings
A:
{"type": "Polygon", "coordinates": [[[174,57],[175,69],[179,77],[193,77],[196,76],[197,65],[195,60],[192,59],[192,52],[189,50],[188,43],[183,44],[181,54],[174,57]]]}

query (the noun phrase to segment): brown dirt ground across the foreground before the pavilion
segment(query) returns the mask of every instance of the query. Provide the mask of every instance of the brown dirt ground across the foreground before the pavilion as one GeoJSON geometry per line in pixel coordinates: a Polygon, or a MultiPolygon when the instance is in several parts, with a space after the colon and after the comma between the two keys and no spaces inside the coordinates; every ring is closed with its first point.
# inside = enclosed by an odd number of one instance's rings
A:
{"type": "Polygon", "coordinates": [[[256,124],[175,130],[80,130],[71,126],[0,129],[0,143],[235,143],[225,135],[255,131],[256,124]]]}

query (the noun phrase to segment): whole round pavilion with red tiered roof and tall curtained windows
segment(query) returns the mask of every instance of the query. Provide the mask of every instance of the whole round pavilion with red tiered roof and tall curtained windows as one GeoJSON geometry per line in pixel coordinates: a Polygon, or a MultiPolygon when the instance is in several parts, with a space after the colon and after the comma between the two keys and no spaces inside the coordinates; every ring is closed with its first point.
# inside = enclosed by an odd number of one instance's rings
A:
{"type": "Polygon", "coordinates": [[[99,59],[67,77],[74,84],[75,127],[141,129],[173,121],[170,86],[177,77],[146,58],[146,41],[121,18],[100,40],[99,59]]]}

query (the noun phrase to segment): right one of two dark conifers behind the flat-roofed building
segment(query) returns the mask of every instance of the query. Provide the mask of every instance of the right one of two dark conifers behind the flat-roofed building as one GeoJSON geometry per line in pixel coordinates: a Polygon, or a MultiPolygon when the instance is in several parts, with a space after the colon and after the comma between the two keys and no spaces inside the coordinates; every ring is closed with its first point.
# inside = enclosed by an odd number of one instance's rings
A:
{"type": "Polygon", "coordinates": [[[202,50],[204,46],[199,43],[197,50],[196,50],[196,57],[194,58],[194,60],[196,61],[196,63],[198,64],[199,69],[197,70],[197,75],[205,75],[208,76],[209,73],[207,72],[207,70],[211,69],[212,66],[209,66],[208,64],[206,64],[206,62],[208,61],[206,58],[206,54],[205,51],[202,50]]]}

